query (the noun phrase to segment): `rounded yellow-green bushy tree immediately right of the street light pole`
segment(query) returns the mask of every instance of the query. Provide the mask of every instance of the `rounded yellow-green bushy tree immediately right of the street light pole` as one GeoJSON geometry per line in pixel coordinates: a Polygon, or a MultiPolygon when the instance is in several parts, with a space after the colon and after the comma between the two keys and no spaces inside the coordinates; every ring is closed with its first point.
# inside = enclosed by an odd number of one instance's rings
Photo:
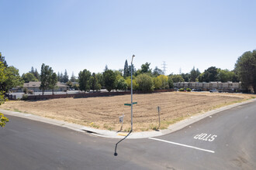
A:
{"type": "Polygon", "coordinates": [[[146,91],[153,91],[154,90],[154,83],[151,76],[148,76],[146,73],[140,74],[136,78],[138,84],[138,90],[146,91]]]}

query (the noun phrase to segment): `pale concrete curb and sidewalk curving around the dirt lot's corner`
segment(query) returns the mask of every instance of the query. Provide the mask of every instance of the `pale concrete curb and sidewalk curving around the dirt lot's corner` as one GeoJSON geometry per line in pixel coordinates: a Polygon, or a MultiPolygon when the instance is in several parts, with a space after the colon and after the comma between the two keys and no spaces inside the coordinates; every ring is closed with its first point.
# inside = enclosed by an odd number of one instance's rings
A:
{"type": "MultiPolygon", "coordinates": [[[[250,102],[254,102],[254,101],[256,101],[256,99],[247,100],[242,103],[231,104],[229,106],[221,107],[216,110],[210,110],[204,114],[198,114],[198,115],[192,116],[188,119],[185,119],[183,121],[179,121],[176,124],[171,124],[168,127],[168,129],[165,129],[165,130],[132,132],[128,138],[133,138],[133,139],[150,138],[150,137],[152,138],[152,137],[157,137],[157,136],[161,136],[164,134],[170,134],[174,131],[178,131],[182,128],[185,128],[186,126],[189,126],[189,124],[193,124],[197,121],[200,121],[203,118],[209,117],[213,114],[217,114],[220,111],[228,110],[230,108],[237,107],[237,106],[247,104],[250,102]]],[[[22,118],[30,119],[33,121],[40,121],[40,122],[47,123],[47,124],[54,124],[56,126],[72,129],[74,131],[87,132],[89,134],[94,134],[96,136],[100,136],[100,137],[104,137],[104,138],[124,138],[124,136],[126,136],[126,134],[128,134],[128,133],[118,132],[118,131],[107,131],[107,130],[99,130],[99,129],[95,129],[95,128],[89,128],[89,127],[85,127],[85,126],[82,126],[79,124],[71,124],[66,121],[58,121],[58,120],[50,119],[47,117],[40,117],[40,116],[37,116],[34,114],[23,114],[23,113],[19,113],[19,112],[15,112],[15,111],[2,110],[2,109],[0,109],[0,112],[2,114],[7,114],[7,115],[11,115],[11,116],[16,116],[16,117],[22,117],[22,118]]]]}

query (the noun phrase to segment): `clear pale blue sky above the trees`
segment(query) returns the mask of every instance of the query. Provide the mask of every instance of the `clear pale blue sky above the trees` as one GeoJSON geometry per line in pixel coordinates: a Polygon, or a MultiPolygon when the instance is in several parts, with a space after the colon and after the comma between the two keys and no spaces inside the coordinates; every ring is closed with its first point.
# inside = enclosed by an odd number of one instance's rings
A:
{"type": "Polygon", "coordinates": [[[78,76],[136,69],[146,62],[166,74],[233,70],[256,49],[251,0],[0,0],[0,52],[27,73],[42,63],[78,76]]]}

